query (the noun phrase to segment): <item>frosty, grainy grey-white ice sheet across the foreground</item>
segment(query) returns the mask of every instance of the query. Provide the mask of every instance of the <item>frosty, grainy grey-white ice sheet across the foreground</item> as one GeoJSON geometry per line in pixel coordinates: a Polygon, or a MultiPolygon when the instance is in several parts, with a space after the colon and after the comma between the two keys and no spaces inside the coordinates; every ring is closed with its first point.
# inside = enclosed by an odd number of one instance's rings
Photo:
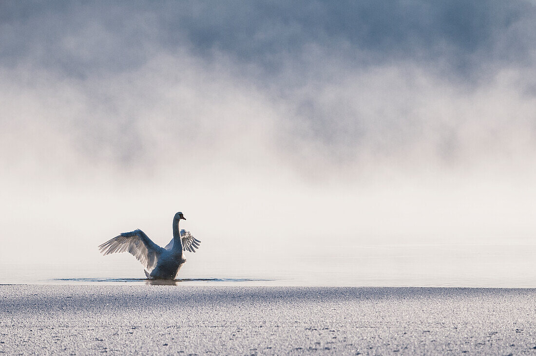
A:
{"type": "Polygon", "coordinates": [[[536,290],[0,286],[0,352],[535,354],[536,290]]]}

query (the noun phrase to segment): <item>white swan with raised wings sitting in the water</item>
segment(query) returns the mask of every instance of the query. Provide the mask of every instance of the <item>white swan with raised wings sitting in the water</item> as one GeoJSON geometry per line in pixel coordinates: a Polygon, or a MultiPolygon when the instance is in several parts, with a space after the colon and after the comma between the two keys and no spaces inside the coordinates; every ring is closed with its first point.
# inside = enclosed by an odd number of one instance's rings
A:
{"type": "Polygon", "coordinates": [[[173,239],[166,247],[160,247],[143,232],[134,230],[123,232],[119,236],[99,246],[103,255],[115,252],[130,252],[145,267],[145,275],[149,279],[175,279],[182,267],[183,251],[196,252],[199,241],[189,231],[180,230],[178,224],[186,218],[180,211],[173,217],[173,239]]]}

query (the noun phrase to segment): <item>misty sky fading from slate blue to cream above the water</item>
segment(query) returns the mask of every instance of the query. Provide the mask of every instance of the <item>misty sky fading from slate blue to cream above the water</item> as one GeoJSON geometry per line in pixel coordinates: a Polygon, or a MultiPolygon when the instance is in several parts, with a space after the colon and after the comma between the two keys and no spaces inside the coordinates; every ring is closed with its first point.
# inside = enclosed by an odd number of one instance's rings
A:
{"type": "Polygon", "coordinates": [[[531,1],[3,1],[0,260],[534,244],[535,64],[531,1]]]}

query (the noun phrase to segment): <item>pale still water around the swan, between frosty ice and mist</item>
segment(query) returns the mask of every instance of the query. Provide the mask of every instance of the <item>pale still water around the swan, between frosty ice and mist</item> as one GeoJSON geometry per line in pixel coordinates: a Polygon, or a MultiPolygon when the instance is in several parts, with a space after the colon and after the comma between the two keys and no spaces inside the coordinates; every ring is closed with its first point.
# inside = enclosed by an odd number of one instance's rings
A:
{"type": "Polygon", "coordinates": [[[2,264],[1,284],[536,287],[536,245],[360,246],[353,256],[189,259],[153,282],[129,254],[79,263],[2,264]]]}

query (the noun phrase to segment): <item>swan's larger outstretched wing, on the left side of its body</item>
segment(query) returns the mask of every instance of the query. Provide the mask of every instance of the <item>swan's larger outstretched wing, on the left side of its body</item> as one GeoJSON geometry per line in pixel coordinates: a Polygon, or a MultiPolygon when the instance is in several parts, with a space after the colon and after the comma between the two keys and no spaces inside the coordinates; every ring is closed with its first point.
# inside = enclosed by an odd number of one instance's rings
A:
{"type": "Polygon", "coordinates": [[[157,266],[158,257],[160,257],[163,248],[153,243],[151,239],[142,230],[123,232],[120,236],[106,241],[99,246],[99,251],[103,255],[110,253],[129,252],[151,271],[157,266]]]}

